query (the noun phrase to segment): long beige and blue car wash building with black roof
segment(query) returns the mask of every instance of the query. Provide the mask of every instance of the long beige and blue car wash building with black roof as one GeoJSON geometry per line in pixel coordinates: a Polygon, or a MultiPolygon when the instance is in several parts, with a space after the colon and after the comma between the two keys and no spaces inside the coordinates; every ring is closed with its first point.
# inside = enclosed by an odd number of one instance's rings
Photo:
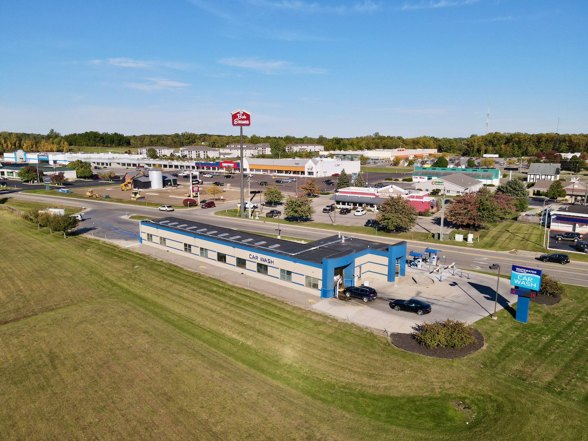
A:
{"type": "Polygon", "coordinates": [[[334,235],[299,243],[175,217],[142,220],[139,233],[142,244],[322,298],[333,297],[339,278],[343,286],[356,286],[366,278],[394,282],[405,275],[405,241],[334,235]]]}

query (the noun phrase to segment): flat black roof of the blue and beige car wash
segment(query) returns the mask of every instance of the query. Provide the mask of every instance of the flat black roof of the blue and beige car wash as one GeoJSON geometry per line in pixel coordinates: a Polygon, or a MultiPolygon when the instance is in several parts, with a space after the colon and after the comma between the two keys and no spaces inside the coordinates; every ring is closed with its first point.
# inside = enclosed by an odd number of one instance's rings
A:
{"type": "Polygon", "coordinates": [[[203,239],[215,238],[232,245],[247,246],[259,251],[272,252],[313,263],[323,262],[323,258],[333,259],[346,256],[349,253],[375,249],[387,252],[388,244],[373,240],[355,239],[337,235],[315,240],[309,243],[292,242],[292,240],[277,239],[256,233],[243,232],[233,228],[210,225],[195,220],[167,217],[153,220],[142,220],[141,223],[153,226],[165,226],[181,233],[191,233],[203,239]],[[345,237],[345,242],[343,238],[345,237]]]}

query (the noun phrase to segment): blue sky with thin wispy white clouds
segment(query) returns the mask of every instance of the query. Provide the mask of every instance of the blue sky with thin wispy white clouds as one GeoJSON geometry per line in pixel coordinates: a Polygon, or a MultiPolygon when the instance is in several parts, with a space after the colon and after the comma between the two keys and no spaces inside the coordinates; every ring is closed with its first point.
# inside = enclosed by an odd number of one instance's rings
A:
{"type": "Polygon", "coordinates": [[[15,1],[0,130],[587,132],[585,1],[15,1]]]}

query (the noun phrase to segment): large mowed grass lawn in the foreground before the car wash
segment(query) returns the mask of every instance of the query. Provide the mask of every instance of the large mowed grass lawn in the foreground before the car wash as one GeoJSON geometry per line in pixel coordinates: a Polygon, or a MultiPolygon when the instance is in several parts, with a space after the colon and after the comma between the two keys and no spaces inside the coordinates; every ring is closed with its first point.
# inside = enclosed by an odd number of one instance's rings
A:
{"type": "Polygon", "coordinates": [[[585,436],[585,288],[526,325],[480,320],[487,347],[440,360],[9,211],[0,234],[2,439],[585,436]]]}

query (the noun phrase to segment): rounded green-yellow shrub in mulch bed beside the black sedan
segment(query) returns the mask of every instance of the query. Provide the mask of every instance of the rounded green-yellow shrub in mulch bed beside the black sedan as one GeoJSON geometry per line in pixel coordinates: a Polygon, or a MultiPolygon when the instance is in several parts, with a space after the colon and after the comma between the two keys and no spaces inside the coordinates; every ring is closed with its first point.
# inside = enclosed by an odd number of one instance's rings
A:
{"type": "Polygon", "coordinates": [[[477,342],[472,328],[466,323],[452,319],[445,322],[423,323],[412,336],[427,348],[462,348],[477,342]]]}

